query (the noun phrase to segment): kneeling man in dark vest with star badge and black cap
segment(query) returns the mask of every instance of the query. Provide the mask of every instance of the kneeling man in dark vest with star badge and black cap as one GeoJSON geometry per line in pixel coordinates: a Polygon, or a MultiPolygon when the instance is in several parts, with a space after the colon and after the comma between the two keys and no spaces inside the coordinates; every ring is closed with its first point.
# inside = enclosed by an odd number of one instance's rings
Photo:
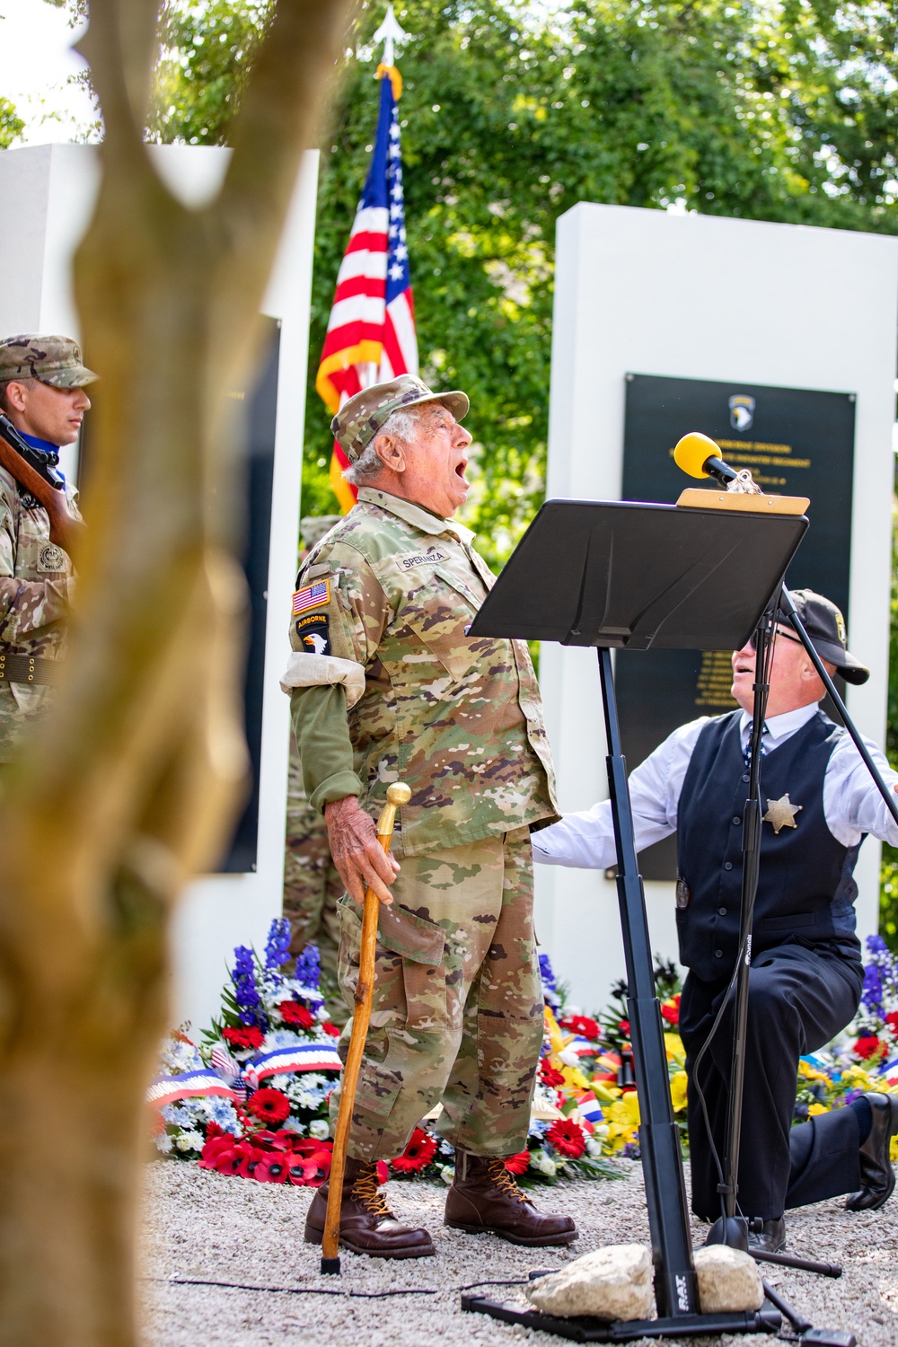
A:
{"type": "MultiPolygon", "coordinates": [[[[829,674],[850,683],[870,676],[845,649],[845,625],[829,599],[793,594],[829,674]]],[[[761,878],[754,912],[749,994],[739,1206],[763,1222],[750,1243],[785,1245],[784,1212],[851,1193],[850,1211],[882,1207],[895,1187],[889,1160],[898,1133],[898,1096],[867,1094],[847,1109],[793,1127],[798,1057],[815,1052],[854,1017],[863,987],[855,936],[852,870],[868,832],[897,845],[886,810],[851,737],[819,709],[823,683],[785,618],[777,622],[765,719],[761,797],[765,807],[761,878]]],[[[742,810],[749,783],[755,651],[732,656],[732,695],[742,711],[703,717],[675,730],[630,776],[637,850],[677,834],[677,932],[689,974],[680,1002],[687,1049],[692,1210],[720,1215],[711,1140],[726,1149],[732,998],[696,1080],[732,975],[739,943],[742,810]]],[[[874,744],[883,777],[898,791],[874,744]]],[[[605,869],[615,862],[607,801],[569,814],[532,838],[548,865],[605,869]]]]}

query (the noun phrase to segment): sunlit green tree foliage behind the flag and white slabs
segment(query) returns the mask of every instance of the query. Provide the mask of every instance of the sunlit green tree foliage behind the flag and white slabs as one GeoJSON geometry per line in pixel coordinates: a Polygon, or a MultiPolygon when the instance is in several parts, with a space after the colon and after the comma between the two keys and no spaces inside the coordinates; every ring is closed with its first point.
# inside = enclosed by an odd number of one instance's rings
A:
{"type": "MultiPolygon", "coordinates": [[[[314,391],[377,117],[362,4],[323,139],[306,513],[333,511],[314,391]]],[[[576,201],[898,228],[894,19],[885,5],[415,0],[400,54],[421,372],[473,409],[467,523],[494,563],[544,490],[555,222],[576,201]]],[[[158,139],[222,143],[268,7],[167,0],[158,139]]],[[[600,315],[596,315],[600,321],[600,315]]]]}

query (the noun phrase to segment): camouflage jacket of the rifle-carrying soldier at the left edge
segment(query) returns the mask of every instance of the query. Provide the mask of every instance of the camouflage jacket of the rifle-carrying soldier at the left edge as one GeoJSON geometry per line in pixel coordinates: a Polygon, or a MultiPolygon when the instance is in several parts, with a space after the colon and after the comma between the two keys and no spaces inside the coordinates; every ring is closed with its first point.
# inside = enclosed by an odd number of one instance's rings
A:
{"type": "MultiPolygon", "coordinates": [[[[81,517],[75,490],[67,486],[66,494],[81,517]]],[[[0,652],[62,659],[73,586],[71,559],[50,541],[46,509],[0,467],[0,652]]],[[[47,684],[0,682],[0,762],[13,757],[23,730],[51,695],[47,684]]]]}

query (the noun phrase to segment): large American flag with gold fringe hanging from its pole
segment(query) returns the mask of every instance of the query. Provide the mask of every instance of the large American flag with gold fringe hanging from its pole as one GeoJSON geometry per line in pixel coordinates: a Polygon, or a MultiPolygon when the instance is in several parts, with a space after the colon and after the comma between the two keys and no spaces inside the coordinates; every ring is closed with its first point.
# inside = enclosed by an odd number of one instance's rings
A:
{"type": "MultiPolygon", "coordinates": [[[[394,66],[378,66],[377,74],[381,105],[372,166],[337,276],[315,380],[331,414],[362,388],[397,374],[417,374],[397,112],[403,81],[394,66]]],[[[334,443],[330,480],[343,513],[355,504],[355,490],[342,477],[347,466],[334,443]]]]}

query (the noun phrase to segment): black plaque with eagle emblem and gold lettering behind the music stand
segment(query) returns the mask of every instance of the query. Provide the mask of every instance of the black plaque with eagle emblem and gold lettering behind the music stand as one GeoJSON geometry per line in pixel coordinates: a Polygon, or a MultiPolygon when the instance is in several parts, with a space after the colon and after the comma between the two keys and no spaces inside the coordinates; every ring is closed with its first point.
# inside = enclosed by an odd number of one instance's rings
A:
{"type": "MultiPolygon", "coordinates": [[[[847,620],[854,393],[627,374],[621,497],[673,504],[685,486],[699,486],[673,462],[677,440],[696,430],[718,442],[726,462],[751,469],[763,490],[810,498],[810,527],[786,583],[825,594],[847,620]]],[[[615,659],[630,768],[677,725],[736,704],[730,696],[730,655],[723,651],[618,651],[615,659]]],[[[644,851],[640,869],[646,880],[676,878],[676,839],[644,851]]]]}

